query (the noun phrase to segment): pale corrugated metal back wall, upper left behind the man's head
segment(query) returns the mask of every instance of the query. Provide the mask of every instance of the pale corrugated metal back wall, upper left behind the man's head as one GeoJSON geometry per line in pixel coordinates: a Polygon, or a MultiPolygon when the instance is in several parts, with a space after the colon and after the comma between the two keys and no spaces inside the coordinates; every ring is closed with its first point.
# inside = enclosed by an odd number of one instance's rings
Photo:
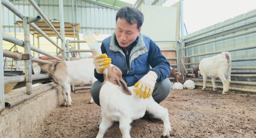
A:
{"type": "MultiPolygon", "coordinates": [[[[13,1],[11,2],[13,3],[13,1]]],[[[46,17],[59,20],[59,2],[57,0],[39,0],[35,2],[38,2],[37,4],[46,17]]],[[[113,33],[116,28],[116,13],[118,10],[83,0],[77,0],[76,9],[75,2],[76,0],[74,0],[74,21],[80,23],[80,27],[82,27],[79,33],[85,33],[86,31],[99,34],[113,33]]],[[[73,22],[72,1],[63,0],[63,6],[64,22],[73,22]]],[[[27,0],[16,0],[15,7],[27,16],[39,15],[27,0]]],[[[3,16],[3,31],[14,32],[14,22],[22,19],[15,17],[14,20],[14,14],[4,6],[2,12],[3,15],[8,15],[3,16]]],[[[23,32],[23,29],[17,26],[16,32],[23,32]]]]}

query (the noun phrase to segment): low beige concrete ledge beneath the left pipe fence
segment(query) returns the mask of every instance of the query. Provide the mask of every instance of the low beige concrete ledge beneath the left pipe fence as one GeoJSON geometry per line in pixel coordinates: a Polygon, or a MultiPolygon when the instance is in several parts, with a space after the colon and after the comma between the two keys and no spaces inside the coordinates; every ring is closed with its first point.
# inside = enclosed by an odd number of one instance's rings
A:
{"type": "Polygon", "coordinates": [[[61,91],[61,87],[58,86],[14,108],[6,108],[0,115],[1,137],[28,137],[50,112],[61,104],[61,91]]]}

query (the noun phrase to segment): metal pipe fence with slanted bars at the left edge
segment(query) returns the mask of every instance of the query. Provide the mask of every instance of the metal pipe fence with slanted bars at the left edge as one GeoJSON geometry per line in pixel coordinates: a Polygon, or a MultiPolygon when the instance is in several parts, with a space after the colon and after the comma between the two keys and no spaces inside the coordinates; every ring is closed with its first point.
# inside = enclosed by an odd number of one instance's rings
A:
{"type": "MultiPolygon", "coordinates": [[[[1,91],[0,91],[0,112],[2,112],[5,109],[5,93],[4,93],[4,85],[8,84],[8,83],[14,83],[14,82],[26,82],[26,94],[27,97],[29,98],[33,98],[41,93],[33,93],[32,92],[32,80],[38,80],[38,79],[43,79],[43,78],[49,78],[49,75],[32,75],[32,66],[31,66],[31,62],[35,61],[35,62],[41,62],[41,63],[48,63],[47,61],[41,60],[41,59],[37,59],[37,58],[32,58],[31,55],[31,50],[41,53],[45,56],[49,56],[53,59],[57,59],[59,61],[62,61],[62,59],[66,59],[66,50],[65,50],[65,31],[64,31],[64,15],[63,15],[63,0],[59,0],[59,11],[60,11],[60,26],[61,26],[61,35],[58,33],[58,31],[53,27],[52,23],[49,21],[49,19],[44,15],[44,13],[40,10],[40,8],[37,6],[37,4],[33,1],[33,0],[28,0],[29,3],[31,3],[31,5],[35,8],[35,10],[43,17],[43,19],[46,21],[46,23],[48,23],[48,25],[51,27],[51,29],[56,33],[57,36],[59,36],[59,38],[61,39],[62,43],[61,43],[61,47],[58,46],[57,43],[55,43],[46,33],[44,33],[39,27],[37,27],[33,22],[37,21],[37,20],[41,20],[40,16],[36,16],[36,17],[29,17],[24,15],[22,12],[19,11],[19,9],[17,9],[14,4],[12,4],[9,0],[1,0],[1,9],[0,11],[2,11],[2,5],[5,6],[6,8],[8,8],[11,12],[13,12],[17,17],[19,17],[20,19],[23,20],[23,29],[24,29],[24,41],[16,39],[15,37],[12,37],[6,33],[4,33],[2,31],[2,24],[0,24],[0,28],[1,28],[1,37],[0,37],[0,41],[1,41],[1,47],[2,45],[2,40],[11,42],[15,45],[24,47],[24,54],[20,54],[20,53],[16,53],[16,52],[11,52],[8,50],[3,50],[3,47],[0,48],[0,54],[3,53],[2,56],[0,56],[0,65],[1,67],[3,67],[3,56],[4,57],[9,57],[9,58],[14,58],[14,60],[24,60],[25,61],[25,75],[23,76],[12,76],[12,77],[5,77],[3,75],[3,68],[1,68],[0,72],[1,72],[1,79],[0,79],[0,84],[1,84],[1,91]],[[56,57],[56,56],[52,56],[49,53],[33,47],[30,45],[30,40],[29,40],[29,26],[32,27],[34,30],[36,30],[37,32],[39,32],[43,37],[45,37],[48,41],[50,41],[54,46],[56,46],[59,50],[62,51],[62,59],[56,57]]],[[[1,14],[2,16],[2,14],[1,14]]],[[[25,98],[28,100],[28,98],[25,98]]],[[[24,101],[24,100],[23,100],[24,101]]]]}

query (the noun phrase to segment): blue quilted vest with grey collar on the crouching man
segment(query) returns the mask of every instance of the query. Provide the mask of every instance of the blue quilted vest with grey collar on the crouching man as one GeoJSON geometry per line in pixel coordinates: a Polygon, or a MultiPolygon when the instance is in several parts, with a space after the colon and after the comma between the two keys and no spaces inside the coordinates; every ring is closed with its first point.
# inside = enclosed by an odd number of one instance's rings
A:
{"type": "Polygon", "coordinates": [[[102,42],[106,53],[111,58],[112,64],[122,71],[122,78],[126,80],[127,86],[134,86],[151,69],[147,62],[150,38],[140,34],[138,43],[130,53],[130,68],[127,67],[125,53],[114,42],[115,33],[104,39],[102,42]]]}

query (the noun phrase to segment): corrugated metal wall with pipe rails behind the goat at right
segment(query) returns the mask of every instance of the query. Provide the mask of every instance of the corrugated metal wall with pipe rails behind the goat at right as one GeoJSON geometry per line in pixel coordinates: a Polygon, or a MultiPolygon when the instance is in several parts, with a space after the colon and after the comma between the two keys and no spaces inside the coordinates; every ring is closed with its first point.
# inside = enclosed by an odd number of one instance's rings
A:
{"type": "MultiPolygon", "coordinates": [[[[181,57],[189,58],[185,65],[187,70],[191,71],[201,59],[228,51],[232,57],[230,90],[256,92],[255,39],[256,10],[189,34],[183,39],[185,45],[181,48],[181,57]]],[[[187,75],[190,77],[191,72],[187,75]]],[[[196,81],[196,86],[203,86],[202,79],[191,80],[196,81]]],[[[222,89],[221,86],[220,84],[217,87],[222,89]]]]}

